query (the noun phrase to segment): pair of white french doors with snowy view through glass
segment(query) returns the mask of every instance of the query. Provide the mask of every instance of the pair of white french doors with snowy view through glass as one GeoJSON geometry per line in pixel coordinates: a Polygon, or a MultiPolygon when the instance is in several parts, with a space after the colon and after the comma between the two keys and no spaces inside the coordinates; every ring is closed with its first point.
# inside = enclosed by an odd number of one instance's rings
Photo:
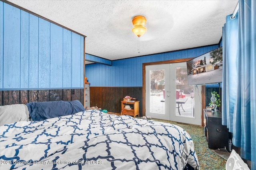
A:
{"type": "Polygon", "coordinates": [[[186,62],[146,66],[146,115],[201,125],[201,86],[188,86],[186,62]]]}

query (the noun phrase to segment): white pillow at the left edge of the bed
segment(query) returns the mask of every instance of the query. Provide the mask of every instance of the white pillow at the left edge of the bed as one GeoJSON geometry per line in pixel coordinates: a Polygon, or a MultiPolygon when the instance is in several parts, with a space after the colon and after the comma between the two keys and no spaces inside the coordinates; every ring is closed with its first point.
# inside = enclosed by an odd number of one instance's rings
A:
{"type": "Polygon", "coordinates": [[[29,121],[28,107],[25,104],[0,106],[0,126],[16,121],[29,121]]]}

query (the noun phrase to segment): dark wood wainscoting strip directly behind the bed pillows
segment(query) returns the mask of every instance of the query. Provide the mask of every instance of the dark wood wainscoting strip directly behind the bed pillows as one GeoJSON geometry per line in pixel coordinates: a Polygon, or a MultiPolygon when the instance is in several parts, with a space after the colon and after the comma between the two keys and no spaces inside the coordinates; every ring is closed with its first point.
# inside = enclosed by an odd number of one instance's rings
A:
{"type": "Polygon", "coordinates": [[[26,104],[29,102],[48,102],[59,100],[79,100],[83,104],[84,89],[0,91],[0,106],[8,104],[26,104]]]}

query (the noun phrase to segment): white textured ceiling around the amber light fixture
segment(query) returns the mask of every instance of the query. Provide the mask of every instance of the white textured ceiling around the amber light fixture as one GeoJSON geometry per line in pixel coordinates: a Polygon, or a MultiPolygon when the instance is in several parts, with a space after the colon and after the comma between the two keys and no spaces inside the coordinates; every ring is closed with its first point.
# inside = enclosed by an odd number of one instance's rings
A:
{"type": "Polygon", "coordinates": [[[219,43],[238,0],[9,0],[86,35],[86,53],[116,60],[219,43]],[[147,18],[138,37],[132,18],[147,18]]]}

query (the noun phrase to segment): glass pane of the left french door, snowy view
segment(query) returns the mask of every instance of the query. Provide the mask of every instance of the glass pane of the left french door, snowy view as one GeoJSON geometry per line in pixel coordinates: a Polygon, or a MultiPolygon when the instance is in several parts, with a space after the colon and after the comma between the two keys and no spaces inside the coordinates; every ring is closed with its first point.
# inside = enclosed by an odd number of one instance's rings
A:
{"type": "Polygon", "coordinates": [[[150,112],[165,113],[164,87],[165,70],[150,70],[150,112]]]}

